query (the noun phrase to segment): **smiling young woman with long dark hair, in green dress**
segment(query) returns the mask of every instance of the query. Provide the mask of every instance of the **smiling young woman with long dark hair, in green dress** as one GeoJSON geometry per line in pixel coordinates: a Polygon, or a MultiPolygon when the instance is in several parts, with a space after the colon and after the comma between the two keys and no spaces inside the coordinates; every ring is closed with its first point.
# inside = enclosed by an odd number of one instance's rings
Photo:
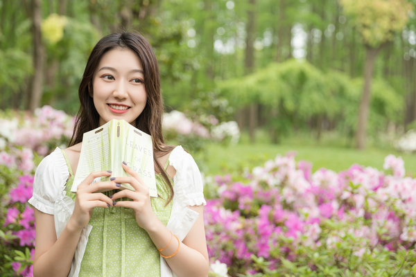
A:
{"type": "Polygon", "coordinates": [[[207,276],[209,263],[198,166],[181,146],[165,145],[159,69],[135,33],[103,37],[79,87],[80,111],[69,148],[45,157],[35,173],[34,276],[207,276]],[[130,177],[92,172],[71,193],[83,133],[123,119],[150,134],[157,192],[130,177]],[[111,181],[94,179],[111,177],[111,181]],[[135,190],[119,190],[120,184],[135,190]],[[104,191],[104,193],[98,192],[104,191]]]}

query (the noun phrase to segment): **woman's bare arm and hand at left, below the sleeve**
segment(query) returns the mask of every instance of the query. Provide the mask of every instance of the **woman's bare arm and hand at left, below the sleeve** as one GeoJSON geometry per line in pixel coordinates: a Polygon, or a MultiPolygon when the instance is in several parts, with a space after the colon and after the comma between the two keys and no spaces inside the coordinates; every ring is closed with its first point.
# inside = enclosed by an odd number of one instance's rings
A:
{"type": "Polygon", "coordinates": [[[81,231],[88,224],[94,207],[112,205],[112,199],[98,190],[118,188],[113,181],[92,181],[97,177],[110,176],[110,172],[93,172],[78,186],[75,206],[58,240],[53,215],[42,213],[35,208],[35,257],[33,276],[68,276],[81,231]],[[90,185],[91,184],[91,185],[90,185]]]}

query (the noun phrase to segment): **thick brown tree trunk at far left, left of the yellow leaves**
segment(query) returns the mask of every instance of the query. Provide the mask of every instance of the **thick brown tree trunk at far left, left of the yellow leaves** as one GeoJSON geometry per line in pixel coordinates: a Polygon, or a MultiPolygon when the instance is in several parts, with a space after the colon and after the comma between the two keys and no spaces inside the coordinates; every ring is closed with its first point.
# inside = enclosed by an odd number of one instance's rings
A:
{"type": "Polygon", "coordinates": [[[31,93],[29,110],[35,111],[40,106],[42,98],[42,84],[44,75],[44,46],[42,44],[42,33],[40,30],[42,22],[42,0],[33,0],[32,24],[33,24],[33,79],[31,82],[31,93]]]}

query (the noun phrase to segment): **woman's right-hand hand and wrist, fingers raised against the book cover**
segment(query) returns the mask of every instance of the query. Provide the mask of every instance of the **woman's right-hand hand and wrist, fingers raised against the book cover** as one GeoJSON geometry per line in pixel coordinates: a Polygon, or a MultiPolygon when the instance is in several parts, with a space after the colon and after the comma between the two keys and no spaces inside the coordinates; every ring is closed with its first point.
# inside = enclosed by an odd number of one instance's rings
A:
{"type": "Polygon", "coordinates": [[[118,193],[112,195],[112,200],[115,201],[121,197],[128,197],[132,201],[119,201],[114,202],[114,206],[121,206],[125,208],[132,208],[135,211],[137,224],[148,231],[154,226],[155,220],[158,220],[150,205],[149,189],[146,184],[141,180],[139,174],[132,170],[125,163],[122,164],[123,169],[130,177],[118,177],[114,179],[116,183],[130,184],[135,190],[120,190],[118,193]]]}

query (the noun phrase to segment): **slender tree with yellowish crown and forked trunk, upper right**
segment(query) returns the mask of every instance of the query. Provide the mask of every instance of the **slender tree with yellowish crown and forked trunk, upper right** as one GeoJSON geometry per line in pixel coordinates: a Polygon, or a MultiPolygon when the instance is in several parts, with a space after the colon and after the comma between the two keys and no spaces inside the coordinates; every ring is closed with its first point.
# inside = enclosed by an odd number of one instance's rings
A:
{"type": "Polygon", "coordinates": [[[376,56],[395,33],[403,30],[412,6],[407,0],[340,0],[365,46],[364,86],[358,108],[356,147],[365,148],[365,131],[376,56]]]}

